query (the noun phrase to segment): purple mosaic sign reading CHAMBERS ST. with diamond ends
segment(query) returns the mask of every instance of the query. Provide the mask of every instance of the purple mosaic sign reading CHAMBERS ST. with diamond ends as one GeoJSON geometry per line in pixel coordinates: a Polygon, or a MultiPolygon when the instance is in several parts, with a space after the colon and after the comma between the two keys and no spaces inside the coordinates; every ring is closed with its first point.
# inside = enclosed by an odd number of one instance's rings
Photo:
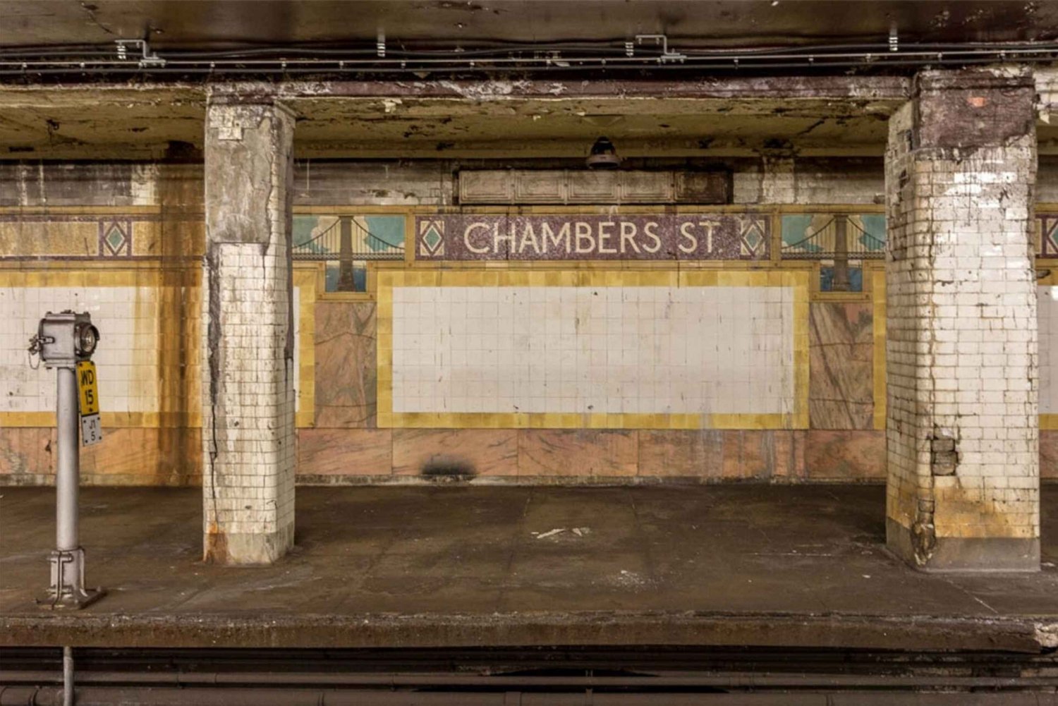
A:
{"type": "Polygon", "coordinates": [[[756,214],[416,217],[423,260],[767,259],[771,228],[756,214]]]}

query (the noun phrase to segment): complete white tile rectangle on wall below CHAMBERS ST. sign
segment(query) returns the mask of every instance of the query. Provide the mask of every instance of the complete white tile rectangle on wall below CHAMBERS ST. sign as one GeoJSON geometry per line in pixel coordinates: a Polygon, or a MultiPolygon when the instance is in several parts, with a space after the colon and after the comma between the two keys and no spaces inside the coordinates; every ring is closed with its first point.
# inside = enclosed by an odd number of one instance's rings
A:
{"type": "Polygon", "coordinates": [[[788,414],[788,287],[397,287],[397,413],[788,414]]]}

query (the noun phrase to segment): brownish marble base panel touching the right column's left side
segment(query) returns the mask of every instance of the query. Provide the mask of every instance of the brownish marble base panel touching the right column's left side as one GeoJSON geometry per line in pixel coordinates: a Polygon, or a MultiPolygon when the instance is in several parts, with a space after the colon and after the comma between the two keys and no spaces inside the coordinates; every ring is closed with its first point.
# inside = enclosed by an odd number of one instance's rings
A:
{"type": "Polygon", "coordinates": [[[883,481],[886,432],[809,430],[804,463],[805,474],[813,481],[883,481]]]}

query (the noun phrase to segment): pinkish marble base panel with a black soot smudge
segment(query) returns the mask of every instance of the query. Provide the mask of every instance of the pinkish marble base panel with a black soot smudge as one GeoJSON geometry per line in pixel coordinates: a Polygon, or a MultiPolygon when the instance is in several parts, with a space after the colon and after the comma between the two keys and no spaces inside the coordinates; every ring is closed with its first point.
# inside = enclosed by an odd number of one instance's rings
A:
{"type": "Polygon", "coordinates": [[[395,429],[394,474],[425,478],[516,475],[515,429],[395,429]]]}

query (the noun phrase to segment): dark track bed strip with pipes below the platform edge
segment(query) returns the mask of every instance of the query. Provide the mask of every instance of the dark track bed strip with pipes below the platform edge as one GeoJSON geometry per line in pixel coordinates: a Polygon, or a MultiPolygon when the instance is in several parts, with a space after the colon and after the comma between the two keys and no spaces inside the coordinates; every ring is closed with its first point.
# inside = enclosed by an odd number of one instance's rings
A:
{"type": "MultiPolygon", "coordinates": [[[[1058,704],[1054,652],[84,649],[74,660],[78,706],[1058,704]]],[[[60,650],[0,649],[0,706],[62,699],[60,650]]]]}

